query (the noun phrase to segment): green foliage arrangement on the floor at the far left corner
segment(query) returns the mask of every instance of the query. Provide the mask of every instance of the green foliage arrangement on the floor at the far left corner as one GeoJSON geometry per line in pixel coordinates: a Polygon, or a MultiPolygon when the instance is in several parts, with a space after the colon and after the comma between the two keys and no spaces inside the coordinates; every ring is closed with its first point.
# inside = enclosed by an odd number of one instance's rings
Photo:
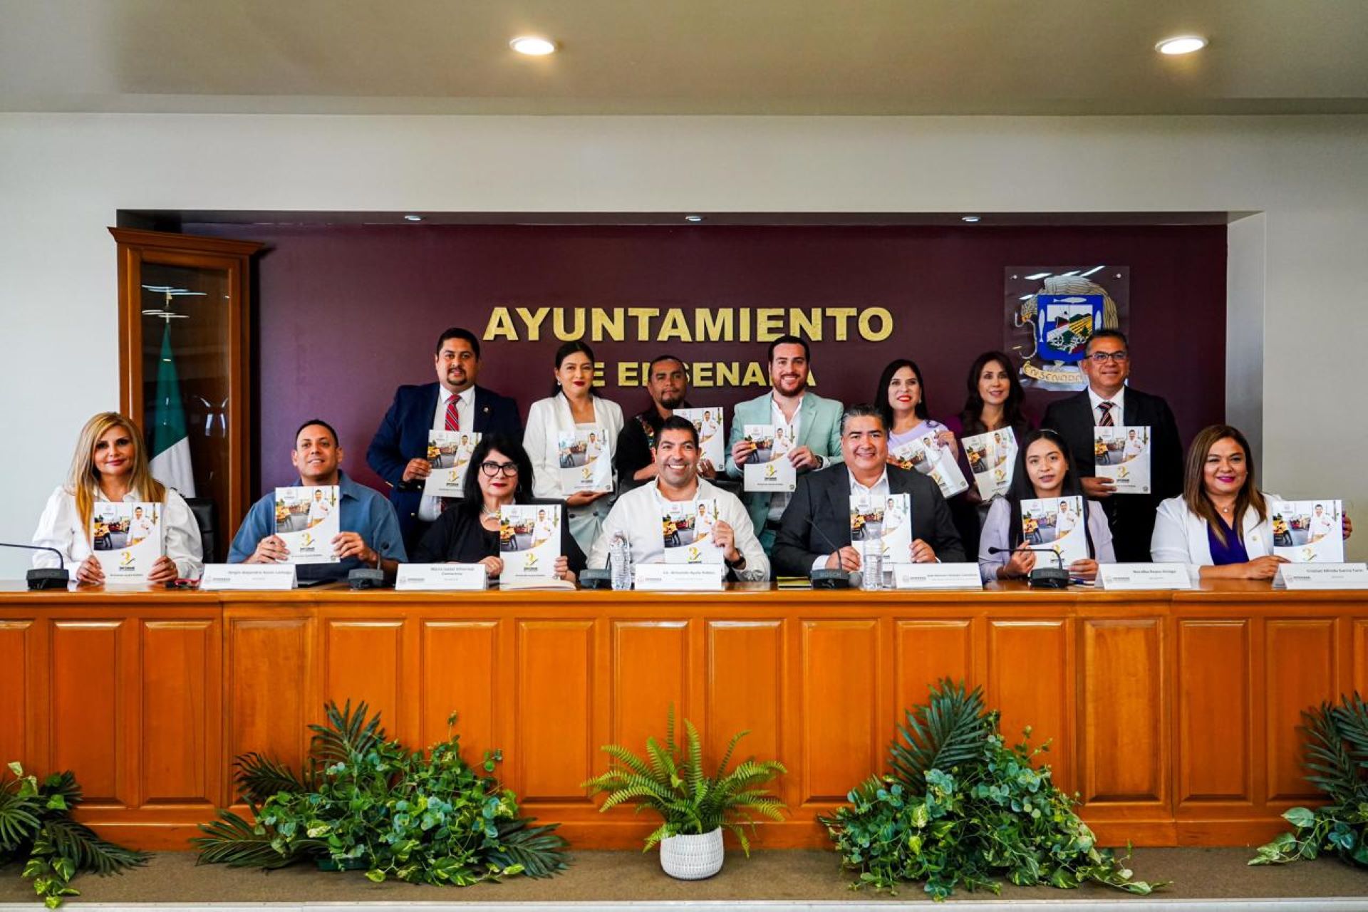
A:
{"type": "Polygon", "coordinates": [[[145,852],[101,840],[71,819],[81,804],[74,773],[53,773],[42,782],[18,763],[10,773],[14,778],[0,779],[0,864],[22,859],[23,878],[49,909],[81,894],[71,886],[81,871],[107,875],[148,863],[145,852]]]}

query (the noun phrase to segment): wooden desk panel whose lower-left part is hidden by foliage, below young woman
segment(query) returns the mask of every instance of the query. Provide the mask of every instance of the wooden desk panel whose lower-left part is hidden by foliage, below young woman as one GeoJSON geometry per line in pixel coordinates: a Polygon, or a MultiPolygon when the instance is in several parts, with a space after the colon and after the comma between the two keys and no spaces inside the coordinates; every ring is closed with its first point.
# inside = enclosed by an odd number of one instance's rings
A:
{"type": "Polygon", "coordinates": [[[1074,790],[1074,681],[1070,621],[989,621],[988,704],[1003,712],[1008,744],[1030,726],[1031,744],[1049,741],[1044,762],[1074,790]]]}

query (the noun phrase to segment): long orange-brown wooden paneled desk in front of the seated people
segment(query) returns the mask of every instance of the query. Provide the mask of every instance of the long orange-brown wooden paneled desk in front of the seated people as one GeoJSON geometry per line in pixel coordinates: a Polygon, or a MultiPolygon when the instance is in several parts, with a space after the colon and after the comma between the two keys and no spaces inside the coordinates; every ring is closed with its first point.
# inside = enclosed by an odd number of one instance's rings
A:
{"type": "Polygon", "coordinates": [[[1368,690],[1368,593],[778,592],[461,595],[0,589],[0,760],[73,768],[82,819],[186,848],[234,799],[234,755],[298,763],[326,699],[367,700],[391,736],[457,730],[531,814],[580,848],[654,827],[602,815],[580,782],[601,744],[640,749],[670,703],[711,751],[788,766],[792,818],[767,846],[821,846],[814,822],[885,764],[902,708],[938,677],[982,684],[1016,740],[1051,738],[1056,781],[1103,841],[1238,845],[1315,800],[1301,710],[1368,690]]]}

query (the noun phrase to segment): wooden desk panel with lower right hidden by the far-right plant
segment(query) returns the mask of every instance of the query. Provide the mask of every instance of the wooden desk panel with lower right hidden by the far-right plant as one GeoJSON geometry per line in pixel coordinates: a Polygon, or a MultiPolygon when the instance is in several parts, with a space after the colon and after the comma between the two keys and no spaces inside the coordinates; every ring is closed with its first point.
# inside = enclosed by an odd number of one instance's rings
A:
{"type": "Polygon", "coordinates": [[[1264,738],[1268,801],[1319,797],[1301,760],[1302,711],[1338,700],[1335,623],[1324,618],[1270,619],[1264,625],[1264,738]]]}

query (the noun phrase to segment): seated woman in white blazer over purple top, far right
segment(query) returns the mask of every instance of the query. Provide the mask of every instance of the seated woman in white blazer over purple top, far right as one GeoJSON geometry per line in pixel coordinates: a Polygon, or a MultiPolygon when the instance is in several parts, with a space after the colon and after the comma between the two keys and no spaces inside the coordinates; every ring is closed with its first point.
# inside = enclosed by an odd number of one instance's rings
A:
{"type": "MultiPolygon", "coordinates": [[[[1274,554],[1271,517],[1280,505],[1259,489],[1245,435],[1213,424],[1187,450],[1182,496],[1159,505],[1149,556],[1192,563],[1202,580],[1272,580],[1287,562],[1274,554]]],[[[1346,515],[1346,539],[1352,531],[1346,515]]]]}

